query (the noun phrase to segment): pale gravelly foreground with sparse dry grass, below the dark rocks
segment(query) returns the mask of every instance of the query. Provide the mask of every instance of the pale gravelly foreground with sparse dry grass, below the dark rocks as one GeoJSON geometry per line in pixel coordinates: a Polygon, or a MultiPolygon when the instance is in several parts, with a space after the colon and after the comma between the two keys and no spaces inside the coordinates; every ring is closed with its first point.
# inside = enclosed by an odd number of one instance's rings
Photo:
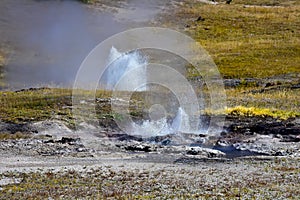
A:
{"type": "Polygon", "coordinates": [[[138,148],[143,144],[123,145],[137,148],[104,151],[82,147],[76,152],[70,147],[76,144],[60,143],[54,149],[64,153],[34,156],[29,155],[31,150],[15,154],[1,149],[0,199],[300,197],[299,156],[226,158],[218,152],[203,153],[206,149],[196,155],[182,146],[144,152],[142,146],[138,148]]]}

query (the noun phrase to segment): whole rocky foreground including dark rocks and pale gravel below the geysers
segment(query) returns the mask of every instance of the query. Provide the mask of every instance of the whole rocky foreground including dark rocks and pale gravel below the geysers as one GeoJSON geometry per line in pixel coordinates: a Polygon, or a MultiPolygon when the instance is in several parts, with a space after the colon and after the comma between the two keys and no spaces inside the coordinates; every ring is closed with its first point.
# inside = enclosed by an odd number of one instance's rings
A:
{"type": "Polygon", "coordinates": [[[1,122],[21,139],[0,141],[0,199],[298,199],[299,119],[260,120],[227,118],[221,137],[192,145],[1,122]]]}

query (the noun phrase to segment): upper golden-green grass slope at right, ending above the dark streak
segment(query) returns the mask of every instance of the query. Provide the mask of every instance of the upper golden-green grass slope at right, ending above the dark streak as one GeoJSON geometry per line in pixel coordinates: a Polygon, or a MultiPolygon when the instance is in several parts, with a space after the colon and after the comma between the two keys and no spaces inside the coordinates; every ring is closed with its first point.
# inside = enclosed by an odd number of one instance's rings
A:
{"type": "Polygon", "coordinates": [[[178,19],[186,24],[185,32],[211,54],[225,78],[300,73],[300,5],[297,2],[282,7],[245,7],[246,1],[232,5],[189,1],[178,9],[172,20],[173,24],[178,19]],[[197,21],[199,16],[204,21],[197,21]]]}

